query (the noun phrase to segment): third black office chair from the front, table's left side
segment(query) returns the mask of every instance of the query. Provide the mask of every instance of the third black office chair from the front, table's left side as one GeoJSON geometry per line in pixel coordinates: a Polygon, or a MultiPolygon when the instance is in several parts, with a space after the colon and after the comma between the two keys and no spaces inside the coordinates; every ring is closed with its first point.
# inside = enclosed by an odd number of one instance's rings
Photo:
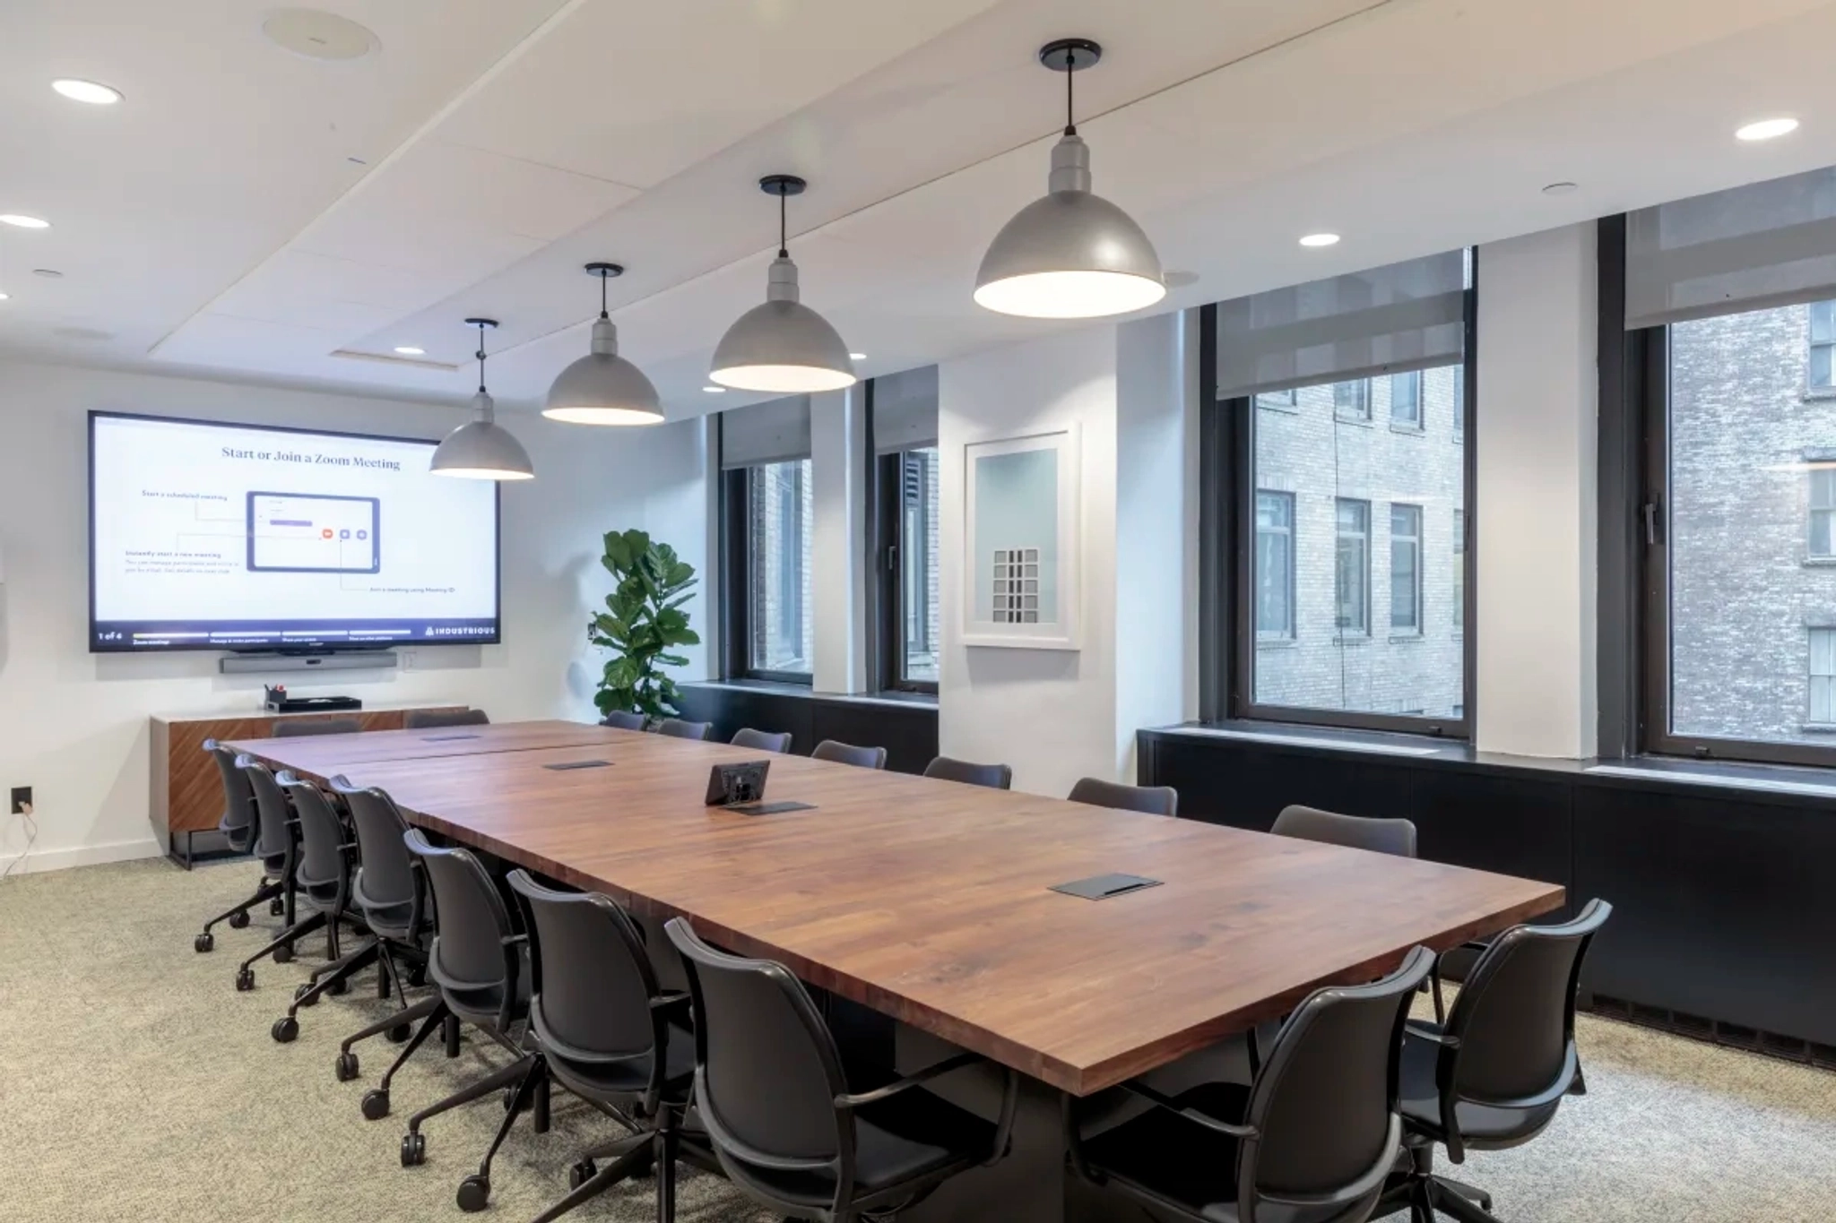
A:
{"type": "Polygon", "coordinates": [[[492,1139],[477,1172],[459,1183],[459,1208],[483,1210],[490,1205],[490,1161],[518,1115],[532,1107],[536,1133],[549,1129],[547,1069],[542,1056],[525,1051],[514,1034],[516,1025],[529,1018],[529,972],[523,964],[529,941],[510,922],[510,909],[505,908],[496,884],[468,851],[437,849],[420,829],[402,834],[402,843],[420,860],[433,891],[435,933],[428,975],[441,988],[441,1005],[420,1021],[420,1029],[382,1082],[365,1093],[364,1117],[375,1120],[389,1113],[389,1080],[433,1029],[444,1025],[448,1014],[501,1045],[514,1058],[509,1065],[420,1109],[408,1118],[408,1133],[402,1135],[402,1166],[413,1168],[428,1157],[422,1124],[461,1104],[514,1085],[498,1137],[492,1139]]]}

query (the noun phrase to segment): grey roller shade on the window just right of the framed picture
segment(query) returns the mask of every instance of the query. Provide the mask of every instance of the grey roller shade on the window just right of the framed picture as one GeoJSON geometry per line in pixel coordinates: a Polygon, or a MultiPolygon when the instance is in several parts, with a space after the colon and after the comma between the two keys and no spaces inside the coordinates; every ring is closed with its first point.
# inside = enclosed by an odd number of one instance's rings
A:
{"type": "Polygon", "coordinates": [[[1217,398],[1454,365],[1465,356],[1465,251],[1217,304],[1217,398]]]}

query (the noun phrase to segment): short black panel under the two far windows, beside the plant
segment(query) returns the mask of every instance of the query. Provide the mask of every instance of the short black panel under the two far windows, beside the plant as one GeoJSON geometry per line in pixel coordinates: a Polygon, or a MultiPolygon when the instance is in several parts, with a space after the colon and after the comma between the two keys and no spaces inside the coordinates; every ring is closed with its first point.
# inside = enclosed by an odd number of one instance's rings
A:
{"type": "Polygon", "coordinates": [[[824,739],[887,750],[887,768],[924,772],[936,757],[936,706],[916,700],[824,697],[789,684],[685,684],[683,717],[714,722],[727,741],[742,726],[789,732],[791,752],[810,755],[824,739]]]}

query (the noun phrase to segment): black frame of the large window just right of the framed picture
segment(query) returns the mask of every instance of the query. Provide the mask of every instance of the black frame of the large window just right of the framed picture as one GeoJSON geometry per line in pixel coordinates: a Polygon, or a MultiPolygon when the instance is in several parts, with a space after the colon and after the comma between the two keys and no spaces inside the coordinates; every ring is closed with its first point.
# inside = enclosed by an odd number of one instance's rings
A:
{"type": "MultiPolygon", "coordinates": [[[[1460,713],[1414,717],[1368,710],[1276,706],[1254,700],[1252,667],[1258,645],[1254,499],[1258,490],[1252,422],[1256,398],[1217,398],[1217,306],[1206,304],[1199,317],[1199,719],[1203,722],[1261,721],[1395,732],[1434,739],[1472,739],[1478,713],[1478,693],[1474,691],[1478,600],[1471,598],[1471,592],[1478,574],[1478,541],[1472,524],[1480,512],[1478,435],[1472,427],[1478,405],[1480,255],[1478,248],[1471,249],[1471,279],[1463,301],[1465,359],[1458,370],[1458,387],[1463,396],[1454,413],[1456,429],[1452,433],[1463,447],[1463,539],[1458,563],[1467,598],[1463,623],[1454,627],[1461,664],[1461,702],[1456,706],[1460,713]]],[[[1370,420],[1355,416],[1338,416],[1337,402],[1333,416],[1335,420],[1370,424],[1370,420]]],[[[1427,411],[1423,411],[1423,418],[1427,418],[1427,411]]],[[[1423,614],[1423,625],[1427,625],[1427,614],[1423,614]]]]}

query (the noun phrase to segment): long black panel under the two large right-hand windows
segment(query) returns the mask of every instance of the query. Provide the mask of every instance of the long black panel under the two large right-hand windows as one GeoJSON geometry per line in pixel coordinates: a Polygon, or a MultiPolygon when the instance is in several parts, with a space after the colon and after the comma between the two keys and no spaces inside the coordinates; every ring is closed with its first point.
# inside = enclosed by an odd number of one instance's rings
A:
{"type": "Polygon", "coordinates": [[[1836,1045],[1832,798],[1190,730],[1140,732],[1138,759],[1142,785],[1179,788],[1182,816],[1256,831],[1287,803],[1403,816],[1423,858],[1562,884],[1570,911],[1610,900],[1583,979],[1608,1007],[1836,1045]]]}

